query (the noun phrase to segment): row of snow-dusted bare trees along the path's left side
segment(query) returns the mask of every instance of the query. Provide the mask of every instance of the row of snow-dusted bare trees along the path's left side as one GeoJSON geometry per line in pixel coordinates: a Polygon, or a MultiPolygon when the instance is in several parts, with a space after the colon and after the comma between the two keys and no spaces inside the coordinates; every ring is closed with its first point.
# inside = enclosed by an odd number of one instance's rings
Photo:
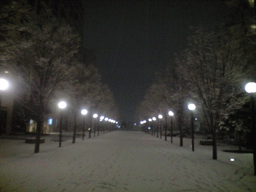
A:
{"type": "Polygon", "coordinates": [[[1,4],[0,69],[8,71],[16,101],[37,121],[35,153],[43,121],[60,98],[72,106],[75,126],[77,112],[85,106],[117,119],[112,92],[94,63],[85,62],[81,33],[69,22],[72,16],[60,15],[47,1],[1,4]]]}

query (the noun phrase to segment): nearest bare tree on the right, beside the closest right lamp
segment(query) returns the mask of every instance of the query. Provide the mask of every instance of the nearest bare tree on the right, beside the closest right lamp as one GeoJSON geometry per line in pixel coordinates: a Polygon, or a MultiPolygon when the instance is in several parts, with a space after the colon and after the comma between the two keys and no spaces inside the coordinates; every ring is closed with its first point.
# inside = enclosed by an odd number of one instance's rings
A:
{"type": "Polygon", "coordinates": [[[217,159],[217,131],[226,113],[245,102],[242,81],[245,62],[242,47],[228,31],[196,30],[189,38],[186,59],[180,60],[180,73],[190,93],[198,98],[208,128],[213,135],[213,159],[217,159]]]}

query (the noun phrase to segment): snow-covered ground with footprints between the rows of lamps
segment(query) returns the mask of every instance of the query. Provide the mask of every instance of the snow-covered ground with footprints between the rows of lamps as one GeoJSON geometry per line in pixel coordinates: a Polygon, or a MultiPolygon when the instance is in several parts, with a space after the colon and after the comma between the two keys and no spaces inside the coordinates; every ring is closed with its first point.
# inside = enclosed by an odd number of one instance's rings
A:
{"type": "MultiPolygon", "coordinates": [[[[174,143],[142,132],[115,131],[75,144],[69,139],[40,145],[0,139],[0,191],[256,191],[252,154],[222,152],[190,139],[174,143]],[[235,161],[230,161],[234,158],[235,161]]],[[[237,149],[237,147],[235,147],[237,149]]]]}

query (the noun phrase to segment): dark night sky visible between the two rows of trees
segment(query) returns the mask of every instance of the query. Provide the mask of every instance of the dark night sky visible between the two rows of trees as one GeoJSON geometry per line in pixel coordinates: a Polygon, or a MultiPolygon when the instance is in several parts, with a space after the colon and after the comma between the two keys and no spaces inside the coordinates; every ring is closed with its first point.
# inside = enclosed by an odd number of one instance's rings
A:
{"type": "Polygon", "coordinates": [[[135,121],[137,105],[173,53],[185,48],[190,25],[213,27],[223,15],[218,0],[89,1],[84,46],[109,85],[122,120],[135,121]]]}

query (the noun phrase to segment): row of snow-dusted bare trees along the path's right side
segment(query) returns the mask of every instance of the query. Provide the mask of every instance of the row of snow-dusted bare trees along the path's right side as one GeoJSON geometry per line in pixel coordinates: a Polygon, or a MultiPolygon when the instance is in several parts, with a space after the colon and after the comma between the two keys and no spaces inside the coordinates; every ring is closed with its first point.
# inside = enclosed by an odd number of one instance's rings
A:
{"type": "MultiPolygon", "coordinates": [[[[147,119],[162,114],[167,119],[171,110],[183,146],[184,128],[189,123],[187,105],[195,103],[200,125],[212,134],[213,159],[217,159],[217,136],[223,130],[233,128],[239,135],[244,133],[251,137],[249,140],[255,139],[250,135],[252,128],[246,113],[249,96],[244,86],[256,79],[256,43],[255,36],[248,32],[253,26],[248,26],[246,19],[231,26],[224,22],[214,30],[191,27],[187,48],[176,53],[166,68],[155,74],[137,109],[139,117],[147,119]]],[[[255,23],[254,15],[249,19],[255,23]]]]}

